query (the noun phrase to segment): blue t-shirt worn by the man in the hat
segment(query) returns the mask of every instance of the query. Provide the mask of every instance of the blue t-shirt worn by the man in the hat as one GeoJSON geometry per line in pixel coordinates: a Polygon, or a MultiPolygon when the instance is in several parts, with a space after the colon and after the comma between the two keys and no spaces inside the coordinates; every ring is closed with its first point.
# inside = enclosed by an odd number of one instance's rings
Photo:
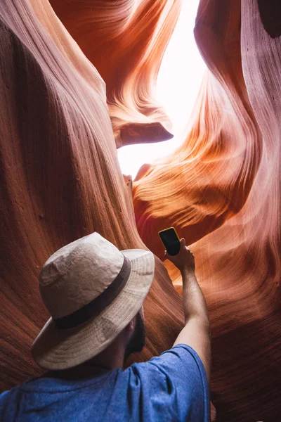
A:
{"type": "Polygon", "coordinates": [[[22,383],[0,395],[0,421],[209,422],[209,385],[195,350],[176,345],[124,371],[22,383]]]}

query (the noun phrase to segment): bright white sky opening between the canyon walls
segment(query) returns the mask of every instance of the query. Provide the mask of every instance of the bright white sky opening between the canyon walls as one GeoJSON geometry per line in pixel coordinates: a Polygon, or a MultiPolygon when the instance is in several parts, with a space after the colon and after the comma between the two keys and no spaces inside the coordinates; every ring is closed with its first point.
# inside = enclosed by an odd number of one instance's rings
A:
{"type": "Polygon", "coordinates": [[[167,46],[157,77],[157,101],[162,103],[173,123],[174,138],[159,143],[142,143],[119,148],[123,174],[134,178],[145,162],[171,153],[183,142],[206,65],[195,43],[193,28],[199,0],[184,0],[181,15],[167,46]]]}

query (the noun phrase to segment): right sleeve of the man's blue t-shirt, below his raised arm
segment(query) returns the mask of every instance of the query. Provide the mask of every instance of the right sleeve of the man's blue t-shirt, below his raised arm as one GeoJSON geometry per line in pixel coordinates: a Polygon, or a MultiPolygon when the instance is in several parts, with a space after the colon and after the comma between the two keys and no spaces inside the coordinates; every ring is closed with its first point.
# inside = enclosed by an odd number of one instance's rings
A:
{"type": "Polygon", "coordinates": [[[150,402],[148,419],[209,422],[207,374],[192,347],[176,345],[145,364],[135,365],[131,369],[141,381],[142,397],[150,402]]]}

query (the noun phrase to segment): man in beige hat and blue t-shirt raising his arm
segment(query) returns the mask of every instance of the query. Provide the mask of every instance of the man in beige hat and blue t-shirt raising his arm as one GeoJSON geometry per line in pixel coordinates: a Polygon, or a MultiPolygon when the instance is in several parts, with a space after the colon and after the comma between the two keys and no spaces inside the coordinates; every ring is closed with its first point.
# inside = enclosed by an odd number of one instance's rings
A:
{"type": "Polygon", "coordinates": [[[0,395],[1,421],[209,421],[209,319],[181,239],[166,255],[183,277],[185,326],[171,350],[122,370],[145,342],[146,250],[119,251],[97,233],[55,252],[39,276],[51,318],[32,356],[50,372],[0,395]]]}

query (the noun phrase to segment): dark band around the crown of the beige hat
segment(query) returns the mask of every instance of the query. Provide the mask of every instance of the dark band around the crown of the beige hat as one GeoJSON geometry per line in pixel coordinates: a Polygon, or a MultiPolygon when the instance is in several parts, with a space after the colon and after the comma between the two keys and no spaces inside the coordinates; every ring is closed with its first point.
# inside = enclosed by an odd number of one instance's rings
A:
{"type": "Polygon", "coordinates": [[[103,293],[100,293],[98,298],[93,299],[91,302],[84,305],[77,311],[70,315],[63,316],[62,318],[53,319],[55,326],[60,329],[74,328],[93,318],[98,316],[110,303],[117,298],[122,288],[124,288],[126,282],[131,274],[131,261],[124,256],[124,262],[122,269],[117,275],[116,279],[112,281],[103,293]]]}

